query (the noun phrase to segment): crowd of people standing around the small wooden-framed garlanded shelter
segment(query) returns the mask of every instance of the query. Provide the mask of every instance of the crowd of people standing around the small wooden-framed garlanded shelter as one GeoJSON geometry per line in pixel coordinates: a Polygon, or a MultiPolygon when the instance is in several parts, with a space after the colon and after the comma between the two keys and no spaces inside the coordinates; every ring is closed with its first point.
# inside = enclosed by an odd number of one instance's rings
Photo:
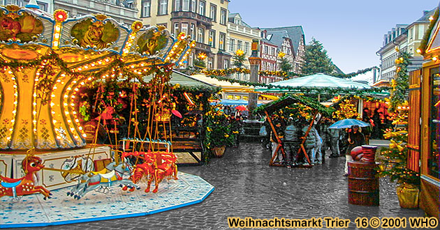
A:
{"type": "MultiPolygon", "coordinates": [[[[277,137],[274,132],[270,132],[271,128],[266,121],[264,125],[265,130],[269,130],[267,137],[263,137],[264,146],[269,146],[272,151],[272,158],[281,164],[286,164],[287,167],[295,167],[299,165],[309,166],[305,154],[301,154],[300,145],[304,140],[303,146],[305,152],[313,164],[323,164],[325,154],[330,153],[329,158],[346,157],[346,162],[352,160],[351,150],[355,146],[362,146],[368,144],[368,137],[371,134],[371,127],[360,128],[358,125],[353,125],[347,129],[333,129],[329,128],[335,121],[328,118],[321,118],[321,121],[314,123],[310,127],[310,123],[293,117],[288,118],[285,125],[277,123],[275,130],[278,137],[283,144],[286,157],[283,158],[281,154],[276,153],[279,145],[277,137]],[[308,135],[307,130],[309,130],[308,135]],[[306,136],[306,137],[305,137],[306,136]],[[270,145],[267,145],[270,143],[270,145]],[[300,154],[298,154],[300,153],[300,154]]],[[[345,174],[348,173],[348,168],[345,168],[345,174]]]]}

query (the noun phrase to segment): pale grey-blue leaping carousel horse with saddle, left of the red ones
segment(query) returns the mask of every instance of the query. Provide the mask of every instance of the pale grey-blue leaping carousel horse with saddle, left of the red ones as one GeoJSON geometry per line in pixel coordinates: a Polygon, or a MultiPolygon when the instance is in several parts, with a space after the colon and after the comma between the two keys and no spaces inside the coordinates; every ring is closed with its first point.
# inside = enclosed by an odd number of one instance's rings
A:
{"type": "Polygon", "coordinates": [[[119,185],[120,187],[129,187],[130,192],[134,189],[140,189],[138,185],[135,185],[130,180],[124,179],[123,176],[131,176],[131,170],[133,167],[128,162],[122,162],[118,164],[115,169],[109,171],[106,174],[94,174],[90,178],[87,178],[85,182],[80,185],[80,190],[71,192],[75,199],[81,199],[87,192],[96,190],[100,187],[111,187],[112,185],[119,185]]]}

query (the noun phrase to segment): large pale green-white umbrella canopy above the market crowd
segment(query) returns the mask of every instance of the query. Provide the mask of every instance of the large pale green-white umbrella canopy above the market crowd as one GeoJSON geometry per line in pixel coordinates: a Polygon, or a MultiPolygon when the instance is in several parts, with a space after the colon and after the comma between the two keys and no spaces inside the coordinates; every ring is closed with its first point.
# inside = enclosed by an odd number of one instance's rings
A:
{"type": "Polygon", "coordinates": [[[276,86],[309,87],[309,88],[342,88],[342,89],[371,89],[371,86],[349,79],[332,77],[323,73],[317,73],[305,77],[297,77],[281,82],[272,82],[272,89],[256,89],[256,91],[289,91],[289,89],[277,89],[276,86]]]}

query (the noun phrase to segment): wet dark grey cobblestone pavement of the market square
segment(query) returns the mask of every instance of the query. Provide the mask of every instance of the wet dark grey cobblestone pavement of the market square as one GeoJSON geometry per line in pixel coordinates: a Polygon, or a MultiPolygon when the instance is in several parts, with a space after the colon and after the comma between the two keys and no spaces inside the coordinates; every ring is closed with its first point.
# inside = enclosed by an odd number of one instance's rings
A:
{"type": "Polygon", "coordinates": [[[269,167],[269,158],[260,144],[242,143],[209,166],[180,167],[214,185],[200,204],[144,217],[34,229],[228,229],[227,217],[339,217],[350,219],[348,229],[355,229],[356,217],[424,216],[423,210],[399,208],[395,184],[388,179],[380,182],[379,207],[348,204],[345,158],[328,158],[311,169],[269,167]]]}

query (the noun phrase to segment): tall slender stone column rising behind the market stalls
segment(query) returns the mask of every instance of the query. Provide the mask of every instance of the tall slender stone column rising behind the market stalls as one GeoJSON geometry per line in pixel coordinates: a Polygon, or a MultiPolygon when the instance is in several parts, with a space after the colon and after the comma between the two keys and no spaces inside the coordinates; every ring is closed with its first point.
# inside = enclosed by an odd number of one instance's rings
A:
{"type": "MultiPolygon", "coordinates": [[[[249,56],[249,63],[251,64],[251,77],[249,78],[249,82],[256,83],[258,82],[258,70],[260,68],[261,58],[258,56],[258,39],[252,40],[252,54],[249,56]]],[[[249,119],[254,118],[254,114],[252,111],[257,107],[257,93],[249,93],[249,119]]]]}

